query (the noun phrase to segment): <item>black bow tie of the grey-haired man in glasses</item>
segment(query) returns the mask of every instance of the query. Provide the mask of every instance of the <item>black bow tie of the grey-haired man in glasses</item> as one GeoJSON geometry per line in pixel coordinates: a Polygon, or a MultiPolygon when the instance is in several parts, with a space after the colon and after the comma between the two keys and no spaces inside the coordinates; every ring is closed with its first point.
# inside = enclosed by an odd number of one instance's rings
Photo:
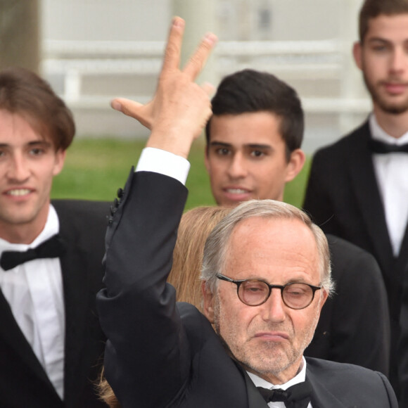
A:
{"type": "Polygon", "coordinates": [[[309,381],[292,385],[287,390],[280,388],[268,390],[262,387],[257,389],[267,403],[281,401],[285,403],[286,408],[307,408],[312,393],[309,381]]]}

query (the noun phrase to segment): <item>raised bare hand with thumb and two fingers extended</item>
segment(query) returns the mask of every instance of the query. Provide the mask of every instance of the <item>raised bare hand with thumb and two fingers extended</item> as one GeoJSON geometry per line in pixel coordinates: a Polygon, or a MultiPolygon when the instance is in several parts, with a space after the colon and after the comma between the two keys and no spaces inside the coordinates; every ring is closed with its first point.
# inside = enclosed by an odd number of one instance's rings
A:
{"type": "Polygon", "coordinates": [[[180,70],[183,33],[184,20],[175,17],[153,99],[142,105],[129,99],[116,98],[112,106],[151,129],[146,146],[161,148],[186,158],[191,143],[211,115],[210,94],[213,87],[210,84],[200,87],[194,80],[203,69],[217,37],[206,34],[189,62],[180,70]]]}

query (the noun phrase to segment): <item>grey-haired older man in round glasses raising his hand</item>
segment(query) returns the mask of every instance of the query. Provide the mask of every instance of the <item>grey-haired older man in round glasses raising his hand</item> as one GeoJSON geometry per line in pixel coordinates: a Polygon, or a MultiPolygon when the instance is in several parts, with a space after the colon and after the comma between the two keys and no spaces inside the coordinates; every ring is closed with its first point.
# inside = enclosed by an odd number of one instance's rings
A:
{"type": "Polygon", "coordinates": [[[110,217],[106,289],[97,298],[108,337],[106,378],[120,404],[396,407],[383,374],[304,359],[331,291],[329,248],[321,230],[291,205],[248,202],[227,215],[205,248],[205,316],[176,304],[166,278],[186,200],[186,158],[211,114],[211,87],[193,81],[215,44],[208,34],[179,70],[183,32],[183,20],[174,18],[150,103],[113,101],[151,128],[110,217]]]}

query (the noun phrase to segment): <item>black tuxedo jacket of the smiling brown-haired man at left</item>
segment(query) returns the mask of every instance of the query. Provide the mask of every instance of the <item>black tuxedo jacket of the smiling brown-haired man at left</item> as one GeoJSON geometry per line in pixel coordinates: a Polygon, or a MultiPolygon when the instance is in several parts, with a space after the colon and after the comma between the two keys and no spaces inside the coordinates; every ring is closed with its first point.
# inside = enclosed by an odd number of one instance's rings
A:
{"type": "Polygon", "coordinates": [[[55,200],[60,236],[67,243],[60,257],[65,305],[65,401],[20,331],[0,291],[0,407],[106,407],[96,397],[105,338],[96,316],[102,287],[108,203],[55,200]]]}

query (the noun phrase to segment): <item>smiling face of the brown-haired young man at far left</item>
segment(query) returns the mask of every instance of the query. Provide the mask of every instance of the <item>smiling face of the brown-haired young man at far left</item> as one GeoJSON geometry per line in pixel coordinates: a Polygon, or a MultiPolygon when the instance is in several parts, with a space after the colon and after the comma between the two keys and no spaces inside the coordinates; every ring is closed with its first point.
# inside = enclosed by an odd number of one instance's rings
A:
{"type": "Polygon", "coordinates": [[[65,150],[44,139],[25,115],[0,110],[0,234],[11,243],[31,243],[44,229],[53,177],[65,150]]]}

